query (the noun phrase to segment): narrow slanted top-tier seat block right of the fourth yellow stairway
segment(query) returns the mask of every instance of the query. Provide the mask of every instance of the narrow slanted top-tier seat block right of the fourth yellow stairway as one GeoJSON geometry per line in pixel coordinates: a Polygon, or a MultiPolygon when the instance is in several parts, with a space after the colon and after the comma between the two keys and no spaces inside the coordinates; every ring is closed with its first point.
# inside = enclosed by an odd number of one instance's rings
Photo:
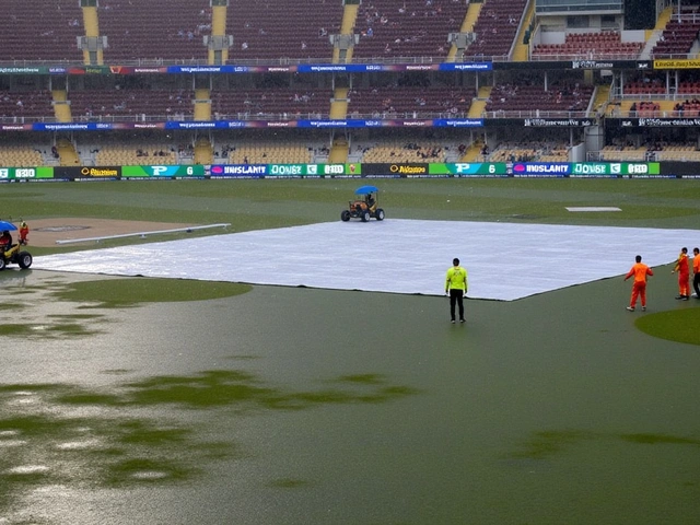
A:
{"type": "Polygon", "coordinates": [[[465,59],[508,56],[526,4],[527,0],[487,0],[474,25],[476,40],[464,51],[465,59]]]}

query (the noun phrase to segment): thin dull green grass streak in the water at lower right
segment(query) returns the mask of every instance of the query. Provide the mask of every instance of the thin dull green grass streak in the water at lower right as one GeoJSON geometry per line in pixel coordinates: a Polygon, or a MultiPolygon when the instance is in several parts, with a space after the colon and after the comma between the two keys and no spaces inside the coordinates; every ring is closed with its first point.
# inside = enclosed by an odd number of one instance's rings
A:
{"type": "Polygon", "coordinates": [[[575,446],[585,440],[621,440],[642,445],[691,445],[700,446],[700,440],[667,434],[605,434],[576,430],[535,432],[520,450],[506,454],[513,459],[545,459],[575,446]]]}

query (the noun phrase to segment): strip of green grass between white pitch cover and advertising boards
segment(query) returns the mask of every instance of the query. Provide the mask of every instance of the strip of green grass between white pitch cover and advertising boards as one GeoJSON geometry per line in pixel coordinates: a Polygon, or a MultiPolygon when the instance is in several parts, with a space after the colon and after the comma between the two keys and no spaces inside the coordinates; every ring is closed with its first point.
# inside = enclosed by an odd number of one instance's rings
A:
{"type": "MultiPolygon", "coordinates": [[[[167,180],[31,184],[0,187],[1,219],[95,217],[191,224],[231,223],[190,237],[339,220],[362,179],[167,180]]],[[[689,179],[377,179],[387,219],[689,228],[700,223],[700,180],[689,179]],[[571,213],[570,206],[621,212],[571,213]]],[[[183,234],[100,245],[32,247],[45,253],[142,244],[183,234]]]]}

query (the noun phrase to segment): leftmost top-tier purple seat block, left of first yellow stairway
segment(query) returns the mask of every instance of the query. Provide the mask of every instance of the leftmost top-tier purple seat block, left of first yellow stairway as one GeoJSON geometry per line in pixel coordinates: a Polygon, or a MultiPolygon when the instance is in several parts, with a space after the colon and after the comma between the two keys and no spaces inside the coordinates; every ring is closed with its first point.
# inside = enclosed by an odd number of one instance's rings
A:
{"type": "Polygon", "coordinates": [[[2,0],[0,62],[14,60],[82,62],[77,37],[84,35],[78,0],[2,0]],[[40,5],[39,5],[40,3],[40,5]]]}

